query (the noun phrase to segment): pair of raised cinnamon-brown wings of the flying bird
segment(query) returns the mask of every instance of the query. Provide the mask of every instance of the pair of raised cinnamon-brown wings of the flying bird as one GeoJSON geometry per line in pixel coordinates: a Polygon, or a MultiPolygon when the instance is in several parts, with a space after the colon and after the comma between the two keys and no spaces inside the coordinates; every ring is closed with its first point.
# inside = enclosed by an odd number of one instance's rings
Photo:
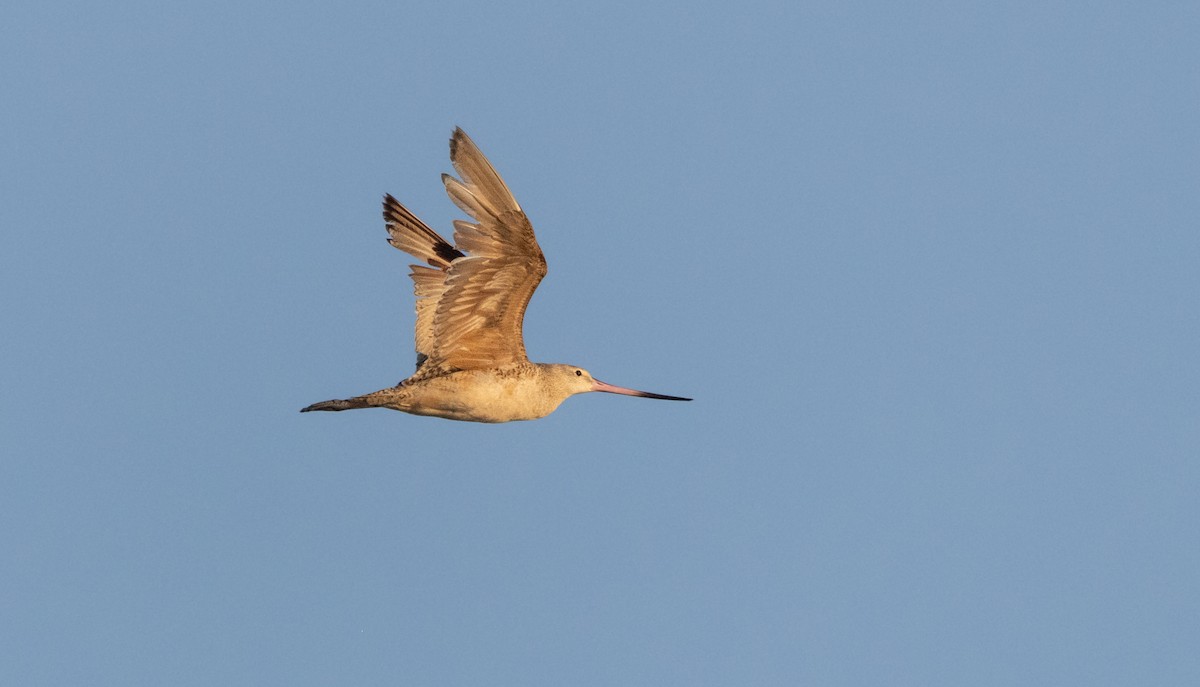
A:
{"type": "Polygon", "coordinates": [[[461,129],[450,139],[450,160],[462,179],[443,174],[446,193],[475,220],[454,222],[456,246],[391,196],[384,201],[391,244],[432,265],[414,265],[412,273],[418,369],[526,362],[521,329],[529,298],[546,275],[546,258],[521,205],[461,129]]]}

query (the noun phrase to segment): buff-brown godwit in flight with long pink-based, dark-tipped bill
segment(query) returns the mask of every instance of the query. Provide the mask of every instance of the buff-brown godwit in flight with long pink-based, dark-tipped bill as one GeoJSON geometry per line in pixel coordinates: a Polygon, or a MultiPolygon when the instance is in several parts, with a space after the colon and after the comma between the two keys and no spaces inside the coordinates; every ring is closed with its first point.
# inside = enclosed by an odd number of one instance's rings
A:
{"type": "Polygon", "coordinates": [[[452,420],[506,423],[554,412],[568,396],[607,392],[690,401],[606,384],[574,365],[530,363],[521,324],[546,258],[509,187],[461,129],[442,175],[446,193],[475,222],[455,220],[451,246],[416,215],[384,197],[388,243],[425,261],[412,265],[416,294],[416,371],[395,387],[322,401],[300,412],[385,407],[452,420]]]}

